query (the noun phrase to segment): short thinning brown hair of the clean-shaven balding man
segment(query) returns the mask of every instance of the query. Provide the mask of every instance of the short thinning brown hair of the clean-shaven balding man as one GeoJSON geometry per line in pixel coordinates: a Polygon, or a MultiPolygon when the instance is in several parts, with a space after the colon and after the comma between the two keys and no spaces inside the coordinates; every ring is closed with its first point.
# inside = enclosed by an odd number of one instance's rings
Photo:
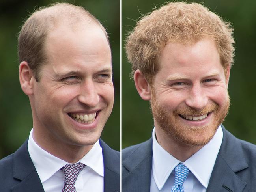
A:
{"type": "Polygon", "coordinates": [[[71,30],[76,30],[80,26],[90,27],[90,23],[100,26],[108,41],[105,28],[84,7],[69,3],[54,3],[47,7],[38,7],[24,22],[19,32],[19,62],[28,62],[36,81],[39,81],[41,67],[48,61],[45,50],[47,35],[60,25],[67,25],[71,30]]]}

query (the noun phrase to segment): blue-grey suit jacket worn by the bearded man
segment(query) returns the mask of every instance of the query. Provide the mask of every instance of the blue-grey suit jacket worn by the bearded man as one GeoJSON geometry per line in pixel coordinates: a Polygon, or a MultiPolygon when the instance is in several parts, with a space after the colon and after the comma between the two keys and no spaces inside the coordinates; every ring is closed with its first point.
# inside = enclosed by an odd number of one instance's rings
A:
{"type": "MultiPolygon", "coordinates": [[[[235,138],[223,126],[222,144],[207,192],[256,191],[256,145],[235,138]]],[[[122,192],[150,192],[152,138],[122,152],[122,192]]]]}

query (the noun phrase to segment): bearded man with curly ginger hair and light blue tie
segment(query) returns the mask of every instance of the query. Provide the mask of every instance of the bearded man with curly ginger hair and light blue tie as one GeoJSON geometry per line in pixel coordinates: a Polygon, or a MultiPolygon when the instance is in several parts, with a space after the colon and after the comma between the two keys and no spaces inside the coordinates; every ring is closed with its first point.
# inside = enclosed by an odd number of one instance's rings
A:
{"type": "Polygon", "coordinates": [[[123,192],[254,191],[256,146],[222,125],[230,106],[233,28],[201,4],[142,17],[126,52],[155,127],[122,153],[123,192]]]}

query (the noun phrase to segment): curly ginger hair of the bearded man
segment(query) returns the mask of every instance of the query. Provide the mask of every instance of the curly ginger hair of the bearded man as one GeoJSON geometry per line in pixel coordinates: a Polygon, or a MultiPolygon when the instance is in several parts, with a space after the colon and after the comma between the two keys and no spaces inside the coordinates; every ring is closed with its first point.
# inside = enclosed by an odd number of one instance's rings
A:
{"type": "Polygon", "coordinates": [[[133,73],[139,69],[149,83],[158,71],[158,58],[166,43],[215,41],[226,71],[234,62],[233,28],[230,22],[198,3],[169,2],[137,21],[126,39],[127,59],[133,73]]]}

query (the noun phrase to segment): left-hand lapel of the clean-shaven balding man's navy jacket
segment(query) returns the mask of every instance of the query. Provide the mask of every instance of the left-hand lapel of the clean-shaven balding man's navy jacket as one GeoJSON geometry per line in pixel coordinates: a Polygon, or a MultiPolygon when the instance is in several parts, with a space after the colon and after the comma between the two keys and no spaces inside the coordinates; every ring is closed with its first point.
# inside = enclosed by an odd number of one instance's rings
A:
{"type": "Polygon", "coordinates": [[[12,188],[12,192],[44,192],[43,185],[28,153],[28,140],[14,153],[13,178],[21,182],[12,188]]]}

